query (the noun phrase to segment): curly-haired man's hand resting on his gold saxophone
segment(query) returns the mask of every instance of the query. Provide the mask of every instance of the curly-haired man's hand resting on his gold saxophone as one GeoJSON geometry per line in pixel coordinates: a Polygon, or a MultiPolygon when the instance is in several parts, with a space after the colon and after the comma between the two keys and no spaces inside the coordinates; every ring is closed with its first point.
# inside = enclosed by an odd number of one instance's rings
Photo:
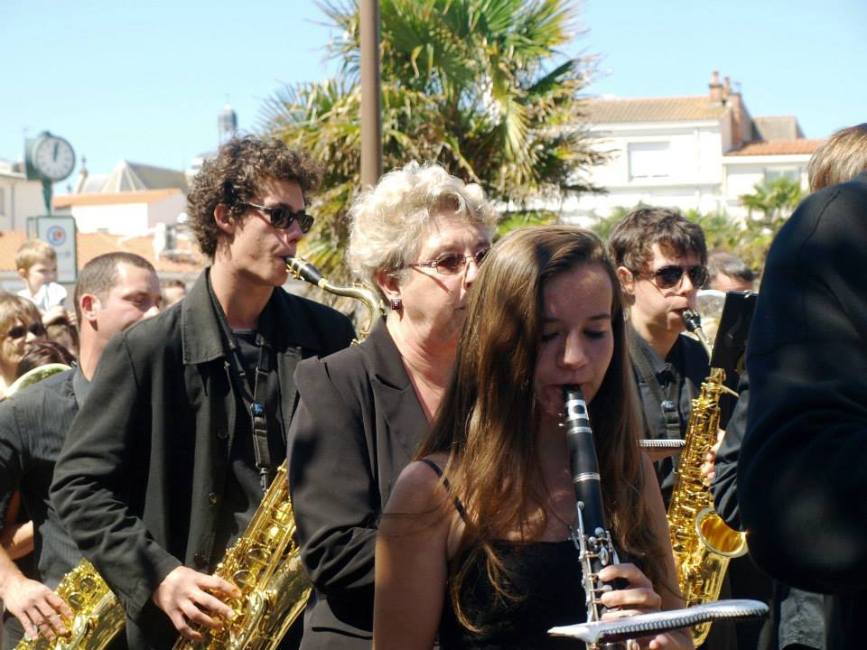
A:
{"type": "Polygon", "coordinates": [[[200,641],[201,633],[192,626],[222,627],[216,617],[231,619],[235,611],[220,598],[240,597],[241,591],[231,582],[180,566],[163,578],[151,599],[182,636],[200,641]]]}

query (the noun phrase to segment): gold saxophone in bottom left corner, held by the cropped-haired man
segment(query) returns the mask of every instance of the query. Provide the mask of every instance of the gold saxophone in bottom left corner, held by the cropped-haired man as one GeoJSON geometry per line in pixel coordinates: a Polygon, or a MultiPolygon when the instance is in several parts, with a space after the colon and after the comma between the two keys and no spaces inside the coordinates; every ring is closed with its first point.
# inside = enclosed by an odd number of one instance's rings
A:
{"type": "Polygon", "coordinates": [[[54,592],[73,611],[71,620],[63,619],[69,631],[53,641],[25,636],[15,650],[102,650],[126,624],[124,608],[87,560],[64,575],[54,592]]]}

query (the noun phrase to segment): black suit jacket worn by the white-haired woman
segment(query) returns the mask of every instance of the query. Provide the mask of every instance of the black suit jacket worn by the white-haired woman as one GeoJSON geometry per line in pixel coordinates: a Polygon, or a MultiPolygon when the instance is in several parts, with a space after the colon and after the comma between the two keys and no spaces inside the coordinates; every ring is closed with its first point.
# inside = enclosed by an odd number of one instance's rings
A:
{"type": "Polygon", "coordinates": [[[302,648],[367,648],[378,517],[428,422],[381,320],[359,346],[307,359],[289,434],[289,490],[315,587],[302,648]]]}

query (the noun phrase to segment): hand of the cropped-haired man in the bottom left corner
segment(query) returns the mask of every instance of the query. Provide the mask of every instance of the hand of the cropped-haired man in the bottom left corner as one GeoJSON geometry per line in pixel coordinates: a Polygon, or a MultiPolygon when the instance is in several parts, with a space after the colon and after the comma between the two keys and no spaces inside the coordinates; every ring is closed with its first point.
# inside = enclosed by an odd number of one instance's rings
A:
{"type": "Polygon", "coordinates": [[[36,638],[41,634],[53,641],[57,635],[68,632],[61,617],[70,620],[72,610],[42,582],[29,580],[19,573],[5,580],[2,587],[0,599],[6,609],[21,621],[24,634],[29,638],[36,638]]]}

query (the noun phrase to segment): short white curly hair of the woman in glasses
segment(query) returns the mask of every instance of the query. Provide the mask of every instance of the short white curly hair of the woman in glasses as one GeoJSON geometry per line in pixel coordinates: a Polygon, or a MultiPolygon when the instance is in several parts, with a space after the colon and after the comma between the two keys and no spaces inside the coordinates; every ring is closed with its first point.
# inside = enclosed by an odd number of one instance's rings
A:
{"type": "Polygon", "coordinates": [[[488,237],[497,222],[479,185],[465,184],[438,164],[413,161],[383,175],[350,208],[352,272],[378,288],[377,272],[398,274],[414,262],[423,237],[441,216],[465,218],[488,237]]]}

